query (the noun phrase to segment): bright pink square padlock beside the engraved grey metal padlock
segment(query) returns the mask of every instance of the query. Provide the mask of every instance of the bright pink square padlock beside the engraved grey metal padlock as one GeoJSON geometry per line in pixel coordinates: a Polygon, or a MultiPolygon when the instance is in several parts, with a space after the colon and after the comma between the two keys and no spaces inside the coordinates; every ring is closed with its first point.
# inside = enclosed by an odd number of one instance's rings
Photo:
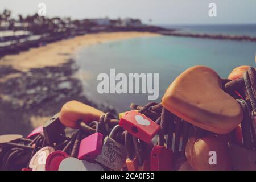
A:
{"type": "Polygon", "coordinates": [[[93,121],[91,125],[96,125],[96,133],[85,137],[80,142],[77,158],[80,160],[93,160],[101,154],[103,135],[98,132],[98,122],[93,121]]]}

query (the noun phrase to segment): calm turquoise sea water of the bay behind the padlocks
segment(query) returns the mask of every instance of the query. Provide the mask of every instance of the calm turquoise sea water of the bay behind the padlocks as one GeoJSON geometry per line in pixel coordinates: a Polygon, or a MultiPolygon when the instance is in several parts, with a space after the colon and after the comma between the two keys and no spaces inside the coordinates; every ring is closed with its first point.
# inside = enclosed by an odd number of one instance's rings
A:
{"type": "MultiPolygon", "coordinates": [[[[91,100],[106,102],[118,111],[129,109],[131,102],[144,105],[148,94],[99,94],[99,73],[159,73],[159,99],[170,83],[185,69],[206,65],[221,77],[239,65],[255,67],[256,43],[231,40],[177,38],[160,36],[134,38],[90,46],[77,55],[84,92],[91,100]],[[89,74],[90,77],[82,77],[89,74]]],[[[188,90],[189,92],[189,90],[188,90]]]]}

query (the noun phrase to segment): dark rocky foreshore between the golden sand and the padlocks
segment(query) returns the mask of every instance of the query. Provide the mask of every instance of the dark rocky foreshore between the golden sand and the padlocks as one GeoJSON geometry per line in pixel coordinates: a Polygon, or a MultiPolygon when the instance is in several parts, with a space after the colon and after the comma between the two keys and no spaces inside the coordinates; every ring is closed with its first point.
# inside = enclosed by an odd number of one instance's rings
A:
{"type": "Polygon", "coordinates": [[[26,135],[69,100],[114,112],[82,94],[81,81],[73,77],[77,69],[73,60],[58,67],[33,68],[28,72],[0,67],[0,134],[26,135]]]}

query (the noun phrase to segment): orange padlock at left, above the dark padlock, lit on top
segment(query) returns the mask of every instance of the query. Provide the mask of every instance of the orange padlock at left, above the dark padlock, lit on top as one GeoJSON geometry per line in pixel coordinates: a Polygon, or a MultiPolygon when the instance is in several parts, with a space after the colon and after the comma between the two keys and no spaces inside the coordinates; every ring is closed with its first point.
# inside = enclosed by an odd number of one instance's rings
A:
{"type": "Polygon", "coordinates": [[[69,101],[61,108],[60,122],[72,129],[78,129],[79,123],[77,121],[89,124],[92,121],[98,121],[102,114],[104,114],[102,111],[92,106],[79,101],[69,101]]]}

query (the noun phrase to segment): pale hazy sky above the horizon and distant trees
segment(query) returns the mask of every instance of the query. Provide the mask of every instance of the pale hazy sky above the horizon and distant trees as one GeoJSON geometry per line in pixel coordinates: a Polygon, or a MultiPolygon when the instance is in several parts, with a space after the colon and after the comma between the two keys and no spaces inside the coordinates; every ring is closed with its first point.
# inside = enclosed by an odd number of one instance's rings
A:
{"type": "Polygon", "coordinates": [[[38,12],[46,4],[48,17],[139,18],[152,24],[256,24],[255,0],[0,0],[0,12],[7,8],[14,17],[38,12]],[[209,3],[216,3],[217,17],[208,15],[209,3]]]}

